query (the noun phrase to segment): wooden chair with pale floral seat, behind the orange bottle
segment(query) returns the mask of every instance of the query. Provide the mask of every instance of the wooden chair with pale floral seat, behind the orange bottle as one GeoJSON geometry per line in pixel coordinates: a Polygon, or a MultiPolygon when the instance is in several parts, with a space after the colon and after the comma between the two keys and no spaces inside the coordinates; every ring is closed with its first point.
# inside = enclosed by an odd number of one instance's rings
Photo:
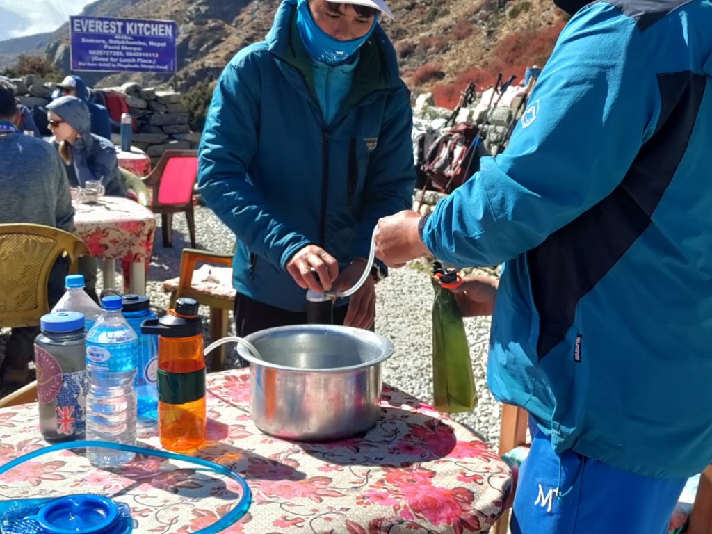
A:
{"type": "MultiPolygon", "coordinates": [[[[179,297],[194,298],[210,308],[210,341],[227,335],[230,310],[234,307],[232,287],[232,255],[184,248],[178,278],[164,281],[163,290],[171,293],[171,308],[179,297]],[[205,263],[199,271],[197,263],[205,263]],[[217,266],[217,267],[216,267],[217,266]]],[[[225,368],[225,347],[211,353],[211,370],[225,368]]]]}

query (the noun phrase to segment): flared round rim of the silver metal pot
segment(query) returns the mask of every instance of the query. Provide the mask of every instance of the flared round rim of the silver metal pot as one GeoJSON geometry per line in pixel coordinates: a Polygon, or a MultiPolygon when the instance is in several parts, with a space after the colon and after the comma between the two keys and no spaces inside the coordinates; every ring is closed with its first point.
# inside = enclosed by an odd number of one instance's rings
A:
{"type": "Polygon", "coordinates": [[[350,326],[340,326],[340,325],[291,325],[291,326],[279,326],[276,328],[267,328],[266,330],[258,330],[245,336],[245,340],[254,344],[256,340],[261,340],[264,337],[269,337],[271,335],[283,333],[283,332],[308,332],[310,330],[319,330],[320,333],[328,334],[343,334],[347,333],[350,337],[370,337],[374,342],[373,344],[381,352],[381,354],[370,362],[363,362],[358,365],[350,365],[348,367],[289,367],[287,365],[279,365],[273,362],[267,362],[261,358],[257,358],[253,355],[249,347],[246,345],[239,344],[237,347],[237,352],[240,357],[251,364],[257,365],[259,367],[269,367],[271,369],[290,371],[290,372],[318,372],[321,374],[326,373],[338,373],[338,372],[349,372],[358,371],[366,369],[367,367],[373,367],[378,365],[393,355],[394,347],[393,343],[386,337],[372,332],[371,330],[363,330],[362,328],[353,328],[350,326]]]}

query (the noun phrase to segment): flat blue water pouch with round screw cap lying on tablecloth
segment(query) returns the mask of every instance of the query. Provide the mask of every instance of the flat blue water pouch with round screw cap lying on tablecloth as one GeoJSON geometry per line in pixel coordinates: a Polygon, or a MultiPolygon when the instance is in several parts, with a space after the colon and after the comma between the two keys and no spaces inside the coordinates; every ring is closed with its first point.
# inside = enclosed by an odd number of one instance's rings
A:
{"type": "Polygon", "coordinates": [[[41,506],[14,508],[2,517],[9,532],[22,534],[130,534],[128,506],[98,495],[70,495],[41,506]]]}

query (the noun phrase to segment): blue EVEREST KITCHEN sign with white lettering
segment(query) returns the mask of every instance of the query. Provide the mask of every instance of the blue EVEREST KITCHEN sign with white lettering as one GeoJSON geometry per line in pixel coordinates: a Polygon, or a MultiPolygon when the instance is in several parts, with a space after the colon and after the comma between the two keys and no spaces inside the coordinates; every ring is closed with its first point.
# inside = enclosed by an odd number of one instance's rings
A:
{"type": "Polygon", "coordinates": [[[72,70],[174,73],[174,21],[70,16],[72,70]]]}

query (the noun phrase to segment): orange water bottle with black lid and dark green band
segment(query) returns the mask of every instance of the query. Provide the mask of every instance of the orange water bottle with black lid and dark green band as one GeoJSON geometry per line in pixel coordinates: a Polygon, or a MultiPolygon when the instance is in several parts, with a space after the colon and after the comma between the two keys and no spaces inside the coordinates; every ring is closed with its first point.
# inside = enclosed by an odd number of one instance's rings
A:
{"type": "Polygon", "coordinates": [[[198,303],[179,298],[174,310],[141,323],[158,335],[158,436],[164,449],[188,451],[205,441],[205,358],[198,303]]]}

